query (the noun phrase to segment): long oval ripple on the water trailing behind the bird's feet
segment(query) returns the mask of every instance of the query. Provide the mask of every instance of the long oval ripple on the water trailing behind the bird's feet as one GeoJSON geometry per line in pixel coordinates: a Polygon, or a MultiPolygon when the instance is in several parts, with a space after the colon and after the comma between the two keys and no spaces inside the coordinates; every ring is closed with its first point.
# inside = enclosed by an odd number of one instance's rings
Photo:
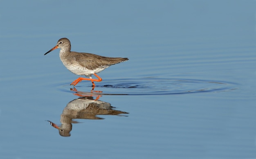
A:
{"type": "MultiPolygon", "coordinates": [[[[236,90],[236,83],[225,81],[206,81],[196,79],[170,79],[170,78],[135,78],[135,79],[115,79],[104,80],[95,83],[97,90],[94,94],[105,95],[161,95],[161,94],[188,94],[203,92],[225,92],[236,90]]],[[[61,85],[62,91],[67,91],[65,87],[70,87],[68,83],[61,85]]],[[[83,93],[92,87],[89,81],[80,82],[76,85],[76,90],[83,93]],[[86,86],[84,86],[86,85],[86,86]],[[88,89],[87,89],[88,88],[88,89]]]]}

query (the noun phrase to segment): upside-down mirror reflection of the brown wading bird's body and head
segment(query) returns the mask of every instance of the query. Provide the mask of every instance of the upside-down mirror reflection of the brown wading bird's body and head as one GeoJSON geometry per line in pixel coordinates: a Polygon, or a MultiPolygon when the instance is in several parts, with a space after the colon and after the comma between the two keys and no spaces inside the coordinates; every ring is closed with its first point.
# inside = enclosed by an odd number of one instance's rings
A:
{"type": "Polygon", "coordinates": [[[59,130],[59,134],[63,137],[70,137],[72,123],[78,123],[72,119],[104,119],[97,115],[118,115],[128,114],[119,110],[113,110],[108,102],[94,100],[92,96],[85,96],[74,99],[67,103],[61,114],[61,125],[56,125],[52,121],[48,121],[54,128],[59,130]]]}

